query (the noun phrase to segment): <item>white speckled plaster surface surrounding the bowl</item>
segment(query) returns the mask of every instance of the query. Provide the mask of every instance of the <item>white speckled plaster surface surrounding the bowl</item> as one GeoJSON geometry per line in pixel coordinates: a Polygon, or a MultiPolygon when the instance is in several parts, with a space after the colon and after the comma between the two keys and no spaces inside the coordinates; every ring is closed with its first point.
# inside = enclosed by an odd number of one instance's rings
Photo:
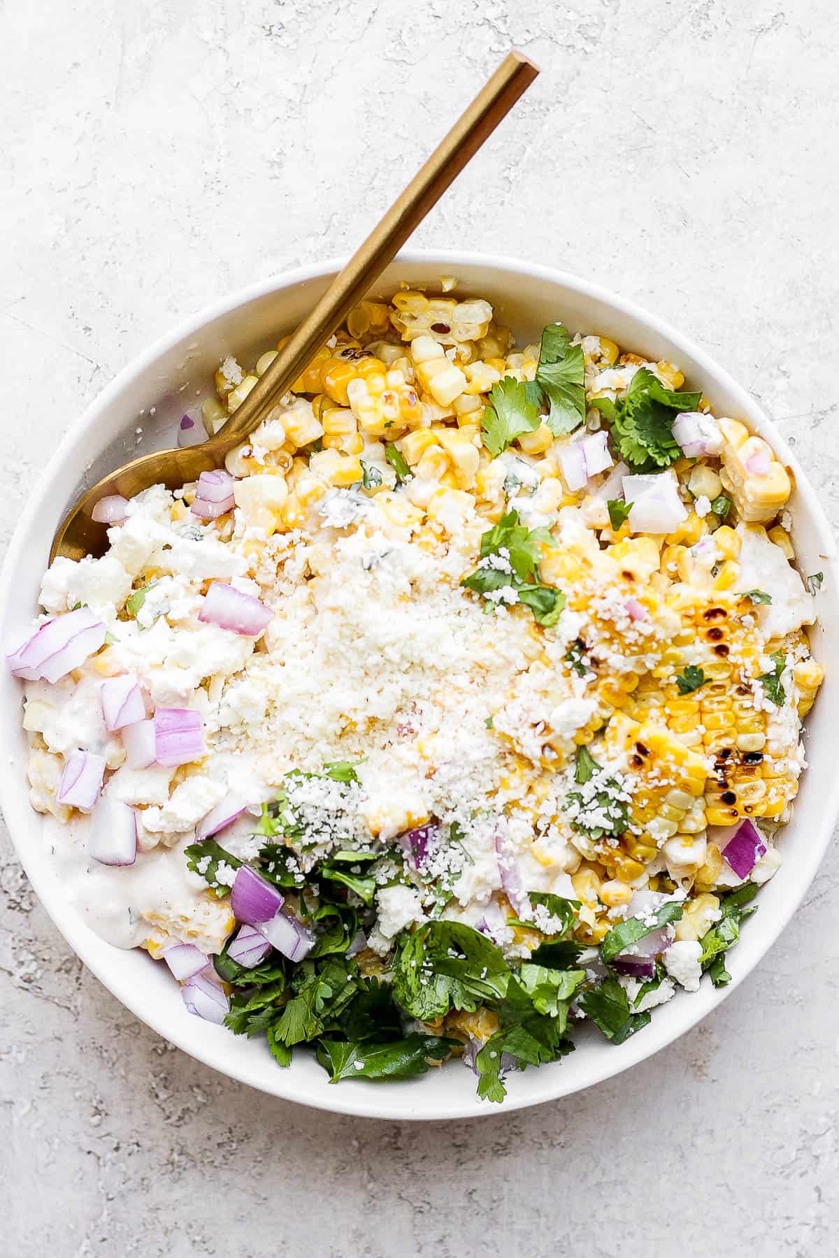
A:
{"type": "MultiPolygon", "coordinates": [[[[5,541],[111,376],[348,250],[501,54],[542,77],[418,244],[538,259],[704,345],[839,511],[833,0],[0,0],[5,541]]],[[[137,1023],[0,848],[0,1249],[670,1258],[836,1249],[839,855],[704,1025],[470,1125],[308,1112],[137,1023]]]]}

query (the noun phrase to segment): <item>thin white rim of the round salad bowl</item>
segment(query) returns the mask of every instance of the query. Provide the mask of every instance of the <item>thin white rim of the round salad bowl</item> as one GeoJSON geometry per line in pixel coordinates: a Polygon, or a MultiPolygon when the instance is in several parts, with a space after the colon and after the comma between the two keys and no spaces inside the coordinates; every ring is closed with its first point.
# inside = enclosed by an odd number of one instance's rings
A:
{"type": "MultiPolygon", "coordinates": [[[[8,605],[11,596],[11,581],[14,571],[20,562],[21,551],[26,545],[34,521],[43,509],[44,501],[49,494],[50,482],[63,463],[65,453],[70,450],[82,434],[96,423],[98,414],[109,405],[111,400],[117,396],[130,381],[146,372],[148,367],[174,345],[186,337],[200,333],[200,331],[214,320],[230,314],[235,309],[260,297],[292,288],[296,284],[303,284],[313,279],[332,276],[346,263],[346,257],[338,257],[330,258],[319,263],[308,263],[306,265],[296,267],[292,270],[283,272],[278,276],[272,276],[235,289],[233,293],[229,293],[203,307],[196,313],[182,318],[167,332],[158,336],[147,348],[132,357],[117,372],[113,380],[107,384],[84,408],[79,418],[70,424],[68,431],[43,469],[39,484],[33,488],[30,498],[21,512],[20,520],[10,540],[3,569],[0,571],[0,599],[3,600],[3,605],[8,605]]],[[[799,465],[795,454],[780,433],[776,431],[774,424],[769,420],[762,408],[755,401],[755,399],[740,384],[737,384],[726,369],[721,367],[711,359],[709,355],[704,352],[704,350],[696,345],[691,337],[677,331],[667,321],[649,313],[638,303],[613,293],[600,284],[592,283],[579,276],[574,276],[570,272],[545,267],[541,263],[527,262],[525,259],[511,258],[494,253],[433,248],[401,250],[391,265],[399,264],[400,262],[406,264],[425,265],[428,267],[430,276],[434,273],[439,274],[442,267],[488,267],[518,277],[526,277],[527,279],[560,284],[582,298],[599,301],[611,307],[614,311],[625,314],[630,320],[643,323],[650,332],[673,342],[673,345],[675,345],[686,356],[693,359],[699,372],[707,374],[731,394],[740,413],[747,416],[750,424],[753,425],[756,430],[765,430],[769,434],[774,449],[776,453],[781,454],[784,462],[791,468],[795,476],[796,489],[801,496],[805,515],[810,517],[816,532],[819,533],[819,540],[824,551],[824,555],[820,555],[820,559],[824,559],[825,579],[829,575],[834,589],[839,584],[836,580],[839,576],[839,564],[836,560],[836,547],[833,532],[818,494],[810,486],[810,482],[799,465]]],[[[375,286],[371,287],[375,288],[375,286]]],[[[18,727],[16,732],[19,733],[19,711],[15,711],[14,723],[18,727]]],[[[0,722],[0,741],[4,737],[5,730],[3,722],[0,722]]],[[[673,1016],[667,1025],[663,1021],[658,1023],[658,1030],[655,1029],[657,1023],[650,1023],[650,1025],[645,1028],[644,1035],[631,1037],[623,1045],[620,1045],[619,1049],[614,1050],[614,1066],[611,1064],[613,1058],[609,1057],[609,1064],[605,1067],[603,1063],[599,1064],[596,1069],[591,1069],[589,1072],[589,1076],[584,1073],[582,1079],[575,1082],[572,1087],[564,1086],[562,1071],[528,1071],[527,1074],[533,1079],[532,1086],[528,1087],[526,1093],[517,1089],[508,1094],[502,1107],[479,1107],[475,1105],[474,1096],[470,1089],[464,1088],[463,1099],[458,1101],[457,1105],[423,1106],[421,1112],[419,1112],[415,1105],[410,1102],[405,1105],[404,1101],[400,1101],[401,1089],[399,1088],[392,1089],[392,1093],[390,1094],[392,1099],[385,1111],[382,1111],[381,1106],[371,1106],[366,1103],[365,1099],[358,1099],[360,1096],[365,1097],[367,1093],[372,1099],[374,1094],[381,1096],[382,1089],[364,1089],[362,1093],[358,1094],[355,1088],[347,1088],[346,1092],[341,1088],[335,1088],[335,1099],[332,1098],[332,1094],[330,1094],[328,1101],[321,1099],[319,1097],[301,1094],[301,1087],[296,1083],[293,1068],[287,1071],[278,1069],[275,1074],[277,1087],[269,1089],[252,1077],[250,1072],[244,1066],[245,1058],[243,1054],[239,1054],[238,1057],[234,1055],[233,1060],[235,1064],[220,1066],[216,1060],[218,1054],[213,1050],[213,1048],[205,1050],[203,1047],[185,1047],[182,1043],[179,1043],[177,1033],[172,1034],[172,1028],[166,1025],[166,1019],[158,1015],[157,1009],[153,1008],[148,1010],[145,1008],[143,999],[135,999],[132,985],[128,979],[123,982],[117,982],[113,976],[104,976],[103,970],[106,966],[99,964],[99,957],[97,955],[103,941],[92,935],[89,928],[84,925],[81,915],[72,908],[69,902],[57,903],[54,896],[50,894],[47,878],[42,878],[38,860],[28,859],[25,825],[23,824],[23,819],[25,815],[31,816],[31,805],[29,804],[29,799],[25,798],[21,806],[20,796],[21,793],[19,788],[13,782],[13,775],[9,772],[1,774],[0,808],[3,809],[3,814],[6,819],[13,845],[33,886],[33,889],[35,891],[52,922],[63,935],[64,940],[73,949],[77,956],[103,984],[103,986],[106,986],[108,991],[111,991],[111,994],[114,995],[136,1018],[143,1021],[164,1039],[176,1044],[176,1047],[182,1052],[186,1052],[189,1055],[200,1060],[204,1066],[209,1066],[220,1074],[233,1078],[236,1082],[245,1083],[259,1091],[264,1091],[270,1096],[277,1096],[286,1101],[294,1101],[299,1105],[306,1105],[331,1113],[376,1117],[390,1121],[440,1121],[492,1117],[509,1113],[513,1110],[542,1105],[547,1101],[558,1099],[564,1096],[585,1091],[589,1087],[594,1087],[597,1083],[613,1078],[615,1074],[620,1074],[623,1071],[636,1066],[639,1062],[653,1057],[660,1049],[667,1048],[668,1044],[672,1044],[702,1021],[703,1018],[714,1011],[766,956],[767,951],[785,930],[790,918],[799,908],[804,896],[806,894],[806,891],[809,889],[830,843],[835,821],[839,818],[839,775],[835,775],[830,790],[825,793],[825,804],[823,809],[824,824],[820,828],[820,840],[811,843],[801,858],[804,867],[803,872],[799,874],[800,887],[797,894],[787,896],[784,899],[780,911],[776,911],[772,917],[766,915],[765,921],[767,925],[764,927],[762,942],[757,954],[753,959],[750,959],[745,966],[737,966],[737,972],[727,986],[713,990],[713,999],[703,1003],[698,999],[698,993],[693,994],[696,999],[683,999],[679,1001],[683,1006],[679,1018],[673,1016]]],[[[304,1093],[306,1089],[303,1088],[302,1091],[304,1093]]]]}

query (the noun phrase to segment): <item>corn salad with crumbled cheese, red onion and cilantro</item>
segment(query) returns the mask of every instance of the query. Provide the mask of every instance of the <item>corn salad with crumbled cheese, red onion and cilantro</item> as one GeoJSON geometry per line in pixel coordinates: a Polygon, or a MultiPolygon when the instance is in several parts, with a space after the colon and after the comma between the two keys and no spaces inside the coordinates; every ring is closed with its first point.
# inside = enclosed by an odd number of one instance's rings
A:
{"type": "MultiPolygon", "coordinates": [[[[94,928],[281,1066],[462,1057],[498,1101],[574,1018],[619,1044],[728,981],[820,575],[789,470],[678,365],[518,348],[440,287],[364,301],[224,469],[111,503],[9,662],[94,928]]],[[[208,434],[284,341],[220,364],[208,434]]]]}

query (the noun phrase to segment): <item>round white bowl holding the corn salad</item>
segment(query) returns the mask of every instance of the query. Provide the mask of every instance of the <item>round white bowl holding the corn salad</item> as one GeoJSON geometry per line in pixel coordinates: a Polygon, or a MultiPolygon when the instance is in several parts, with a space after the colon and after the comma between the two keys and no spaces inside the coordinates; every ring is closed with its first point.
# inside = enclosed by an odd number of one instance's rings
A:
{"type": "MultiPolygon", "coordinates": [[[[245,364],[253,362],[308,311],[337,267],[332,262],[301,268],[281,279],[234,293],[181,323],[119,372],[64,438],[20,520],[3,570],[1,640],[35,613],[53,532],[82,486],[138,453],[138,424],[145,430],[140,449],[172,444],[181,413],[211,392],[211,377],[219,360],[235,353],[245,364]]],[[[704,980],[698,993],[681,994],[655,1010],[652,1024],[620,1047],[594,1034],[582,1034],[577,1052],[565,1060],[514,1072],[508,1079],[504,1102],[507,1110],[513,1110],[599,1083],[682,1035],[742,981],[801,902],[839,814],[835,723],[831,720],[834,704],[839,702],[835,550],[828,521],[792,453],[748,394],[687,337],[631,302],[582,279],[507,258],[455,252],[405,253],[376,288],[382,293],[392,292],[403,279],[433,284],[445,274],[458,277],[458,294],[470,293],[493,302],[501,321],[513,327],[521,343],[533,340],[545,323],[561,318],[574,331],[605,333],[624,348],[677,362],[687,385],[702,387],[717,414],[745,419],[771,442],[791,468],[796,481],[791,511],[799,564],[804,572],[825,574],[818,595],[820,624],[814,642],[828,676],[808,718],[810,767],[804,776],[794,820],[782,838],[784,866],[761,889],[760,911],[750,920],[732,954],[733,981],[717,991],[704,980]],[[831,633],[825,632],[828,628],[831,633]]],[[[330,1084],[306,1052],[296,1054],[289,1069],[281,1069],[263,1040],[234,1037],[186,1013],[165,966],[153,964],[142,951],[125,952],[98,938],[64,899],[40,840],[42,820],[29,805],[25,780],[20,684],[5,668],[0,669],[0,757],[6,766],[1,803],[20,859],[68,944],[138,1018],[216,1071],[303,1105],[381,1118],[469,1118],[498,1112],[497,1106],[477,1102],[474,1077],[457,1062],[419,1079],[386,1086],[330,1084]]]]}

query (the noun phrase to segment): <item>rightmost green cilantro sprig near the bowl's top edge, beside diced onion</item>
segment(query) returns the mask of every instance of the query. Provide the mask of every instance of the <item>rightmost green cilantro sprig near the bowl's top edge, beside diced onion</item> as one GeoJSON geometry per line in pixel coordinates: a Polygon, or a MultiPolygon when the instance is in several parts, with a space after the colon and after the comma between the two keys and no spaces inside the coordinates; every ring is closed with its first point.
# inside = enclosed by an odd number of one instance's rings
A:
{"type": "Polygon", "coordinates": [[[652,371],[642,367],[625,398],[605,406],[601,399],[595,399],[591,405],[611,420],[613,438],[624,463],[639,472],[655,472],[682,457],[673,437],[673,420],[682,410],[696,410],[699,398],[698,392],[665,389],[652,371]]]}

